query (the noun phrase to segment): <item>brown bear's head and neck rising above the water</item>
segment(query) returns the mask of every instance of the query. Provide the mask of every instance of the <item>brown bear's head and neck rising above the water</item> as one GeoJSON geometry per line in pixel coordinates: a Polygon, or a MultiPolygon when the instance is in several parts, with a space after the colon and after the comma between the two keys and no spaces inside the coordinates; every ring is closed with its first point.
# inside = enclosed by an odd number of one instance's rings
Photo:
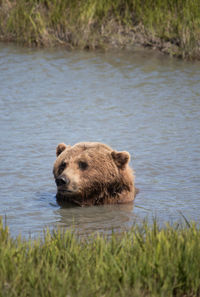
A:
{"type": "Polygon", "coordinates": [[[128,152],[98,142],[60,143],[53,174],[57,199],[80,206],[127,203],[136,190],[128,152]]]}

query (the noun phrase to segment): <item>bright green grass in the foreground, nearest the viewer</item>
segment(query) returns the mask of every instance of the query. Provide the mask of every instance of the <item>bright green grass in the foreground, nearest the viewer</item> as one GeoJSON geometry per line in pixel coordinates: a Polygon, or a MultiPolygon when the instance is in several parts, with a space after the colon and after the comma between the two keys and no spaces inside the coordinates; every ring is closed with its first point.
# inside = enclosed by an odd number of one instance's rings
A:
{"type": "Polygon", "coordinates": [[[200,296],[200,231],[135,226],[81,239],[12,239],[0,225],[0,296],[200,296]]]}

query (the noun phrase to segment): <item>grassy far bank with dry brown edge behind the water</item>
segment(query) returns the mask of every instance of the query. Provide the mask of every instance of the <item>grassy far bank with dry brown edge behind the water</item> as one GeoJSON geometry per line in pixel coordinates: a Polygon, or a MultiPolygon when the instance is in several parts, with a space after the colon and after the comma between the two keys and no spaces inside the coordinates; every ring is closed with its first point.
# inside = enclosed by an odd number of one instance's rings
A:
{"type": "Polygon", "coordinates": [[[200,59],[200,1],[0,0],[0,40],[92,49],[143,45],[200,59]]]}

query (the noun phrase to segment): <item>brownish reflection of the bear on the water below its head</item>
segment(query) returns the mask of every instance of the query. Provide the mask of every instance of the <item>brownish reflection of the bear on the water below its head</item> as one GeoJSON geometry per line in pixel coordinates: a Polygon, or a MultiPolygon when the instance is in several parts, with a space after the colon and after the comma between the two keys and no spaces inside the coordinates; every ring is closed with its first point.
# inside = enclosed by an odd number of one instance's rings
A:
{"type": "Polygon", "coordinates": [[[127,230],[130,218],[134,220],[133,203],[125,205],[105,205],[92,207],[59,208],[59,226],[70,226],[79,234],[93,232],[110,233],[111,231],[127,230]]]}

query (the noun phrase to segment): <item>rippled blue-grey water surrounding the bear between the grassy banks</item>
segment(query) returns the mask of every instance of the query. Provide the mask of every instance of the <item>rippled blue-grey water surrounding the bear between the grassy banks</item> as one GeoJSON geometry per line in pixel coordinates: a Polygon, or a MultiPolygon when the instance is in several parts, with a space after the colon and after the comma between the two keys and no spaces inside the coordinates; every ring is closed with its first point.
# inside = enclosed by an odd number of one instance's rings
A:
{"type": "Polygon", "coordinates": [[[36,50],[0,44],[0,215],[12,236],[81,234],[200,218],[200,63],[153,52],[36,50]],[[127,150],[133,205],[64,208],[52,168],[60,142],[127,150]]]}

